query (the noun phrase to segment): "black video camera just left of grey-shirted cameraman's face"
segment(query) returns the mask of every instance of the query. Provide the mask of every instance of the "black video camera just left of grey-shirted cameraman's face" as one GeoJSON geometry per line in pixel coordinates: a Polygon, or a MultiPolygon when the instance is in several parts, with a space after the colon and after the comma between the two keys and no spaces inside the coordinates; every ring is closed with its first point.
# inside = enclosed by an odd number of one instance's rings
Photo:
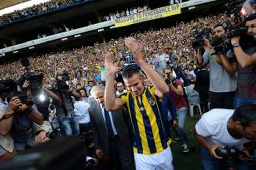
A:
{"type": "Polygon", "coordinates": [[[192,47],[194,49],[200,49],[204,46],[204,39],[203,38],[209,38],[209,35],[211,33],[211,28],[204,28],[202,31],[198,31],[196,29],[192,30],[192,36],[193,36],[193,42],[192,47]]]}

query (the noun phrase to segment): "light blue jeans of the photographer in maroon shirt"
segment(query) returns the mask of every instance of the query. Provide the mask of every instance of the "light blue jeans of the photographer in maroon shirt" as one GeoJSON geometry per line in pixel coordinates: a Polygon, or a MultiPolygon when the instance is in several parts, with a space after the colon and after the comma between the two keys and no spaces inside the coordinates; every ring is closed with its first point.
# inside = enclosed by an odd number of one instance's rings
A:
{"type": "Polygon", "coordinates": [[[181,107],[176,109],[178,117],[178,127],[174,128],[173,131],[176,133],[178,138],[181,138],[182,143],[188,143],[187,132],[185,128],[185,121],[187,116],[187,107],[181,107]]]}

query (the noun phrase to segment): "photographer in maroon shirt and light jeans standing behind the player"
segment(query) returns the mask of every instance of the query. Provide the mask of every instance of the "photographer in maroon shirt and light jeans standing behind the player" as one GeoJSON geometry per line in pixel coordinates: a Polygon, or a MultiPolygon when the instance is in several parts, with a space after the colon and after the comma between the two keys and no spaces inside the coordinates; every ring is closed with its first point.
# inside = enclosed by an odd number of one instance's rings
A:
{"type": "Polygon", "coordinates": [[[178,117],[178,127],[174,124],[173,130],[177,138],[173,142],[182,142],[182,151],[189,152],[187,133],[185,129],[185,121],[187,115],[187,101],[184,98],[185,91],[183,90],[182,83],[179,79],[172,77],[172,68],[166,67],[164,73],[166,76],[166,83],[169,85],[171,97],[176,107],[176,115],[178,117]]]}

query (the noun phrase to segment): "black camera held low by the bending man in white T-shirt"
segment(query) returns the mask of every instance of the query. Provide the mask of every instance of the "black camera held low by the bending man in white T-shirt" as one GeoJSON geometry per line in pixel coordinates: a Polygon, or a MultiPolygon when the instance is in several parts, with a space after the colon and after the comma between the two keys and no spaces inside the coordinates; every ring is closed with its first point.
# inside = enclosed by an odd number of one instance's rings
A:
{"type": "Polygon", "coordinates": [[[217,148],[215,153],[223,157],[226,161],[226,169],[227,170],[236,170],[237,167],[235,165],[236,159],[239,155],[247,156],[244,152],[240,151],[237,148],[225,146],[224,148],[217,148]]]}

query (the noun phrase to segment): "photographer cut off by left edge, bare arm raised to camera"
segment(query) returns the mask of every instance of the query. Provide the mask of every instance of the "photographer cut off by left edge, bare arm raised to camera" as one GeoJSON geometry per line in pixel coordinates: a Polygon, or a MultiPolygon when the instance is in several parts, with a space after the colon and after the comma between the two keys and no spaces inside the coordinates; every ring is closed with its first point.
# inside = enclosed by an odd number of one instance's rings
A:
{"type": "Polygon", "coordinates": [[[21,101],[18,97],[13,97],[9,104],[5,102],[5,97],[0,94],[0,162],[13,157],[16,154],[14,149],[14,142],[9,134],[12,122],[13,113],[21,105],[21,101]]]}

